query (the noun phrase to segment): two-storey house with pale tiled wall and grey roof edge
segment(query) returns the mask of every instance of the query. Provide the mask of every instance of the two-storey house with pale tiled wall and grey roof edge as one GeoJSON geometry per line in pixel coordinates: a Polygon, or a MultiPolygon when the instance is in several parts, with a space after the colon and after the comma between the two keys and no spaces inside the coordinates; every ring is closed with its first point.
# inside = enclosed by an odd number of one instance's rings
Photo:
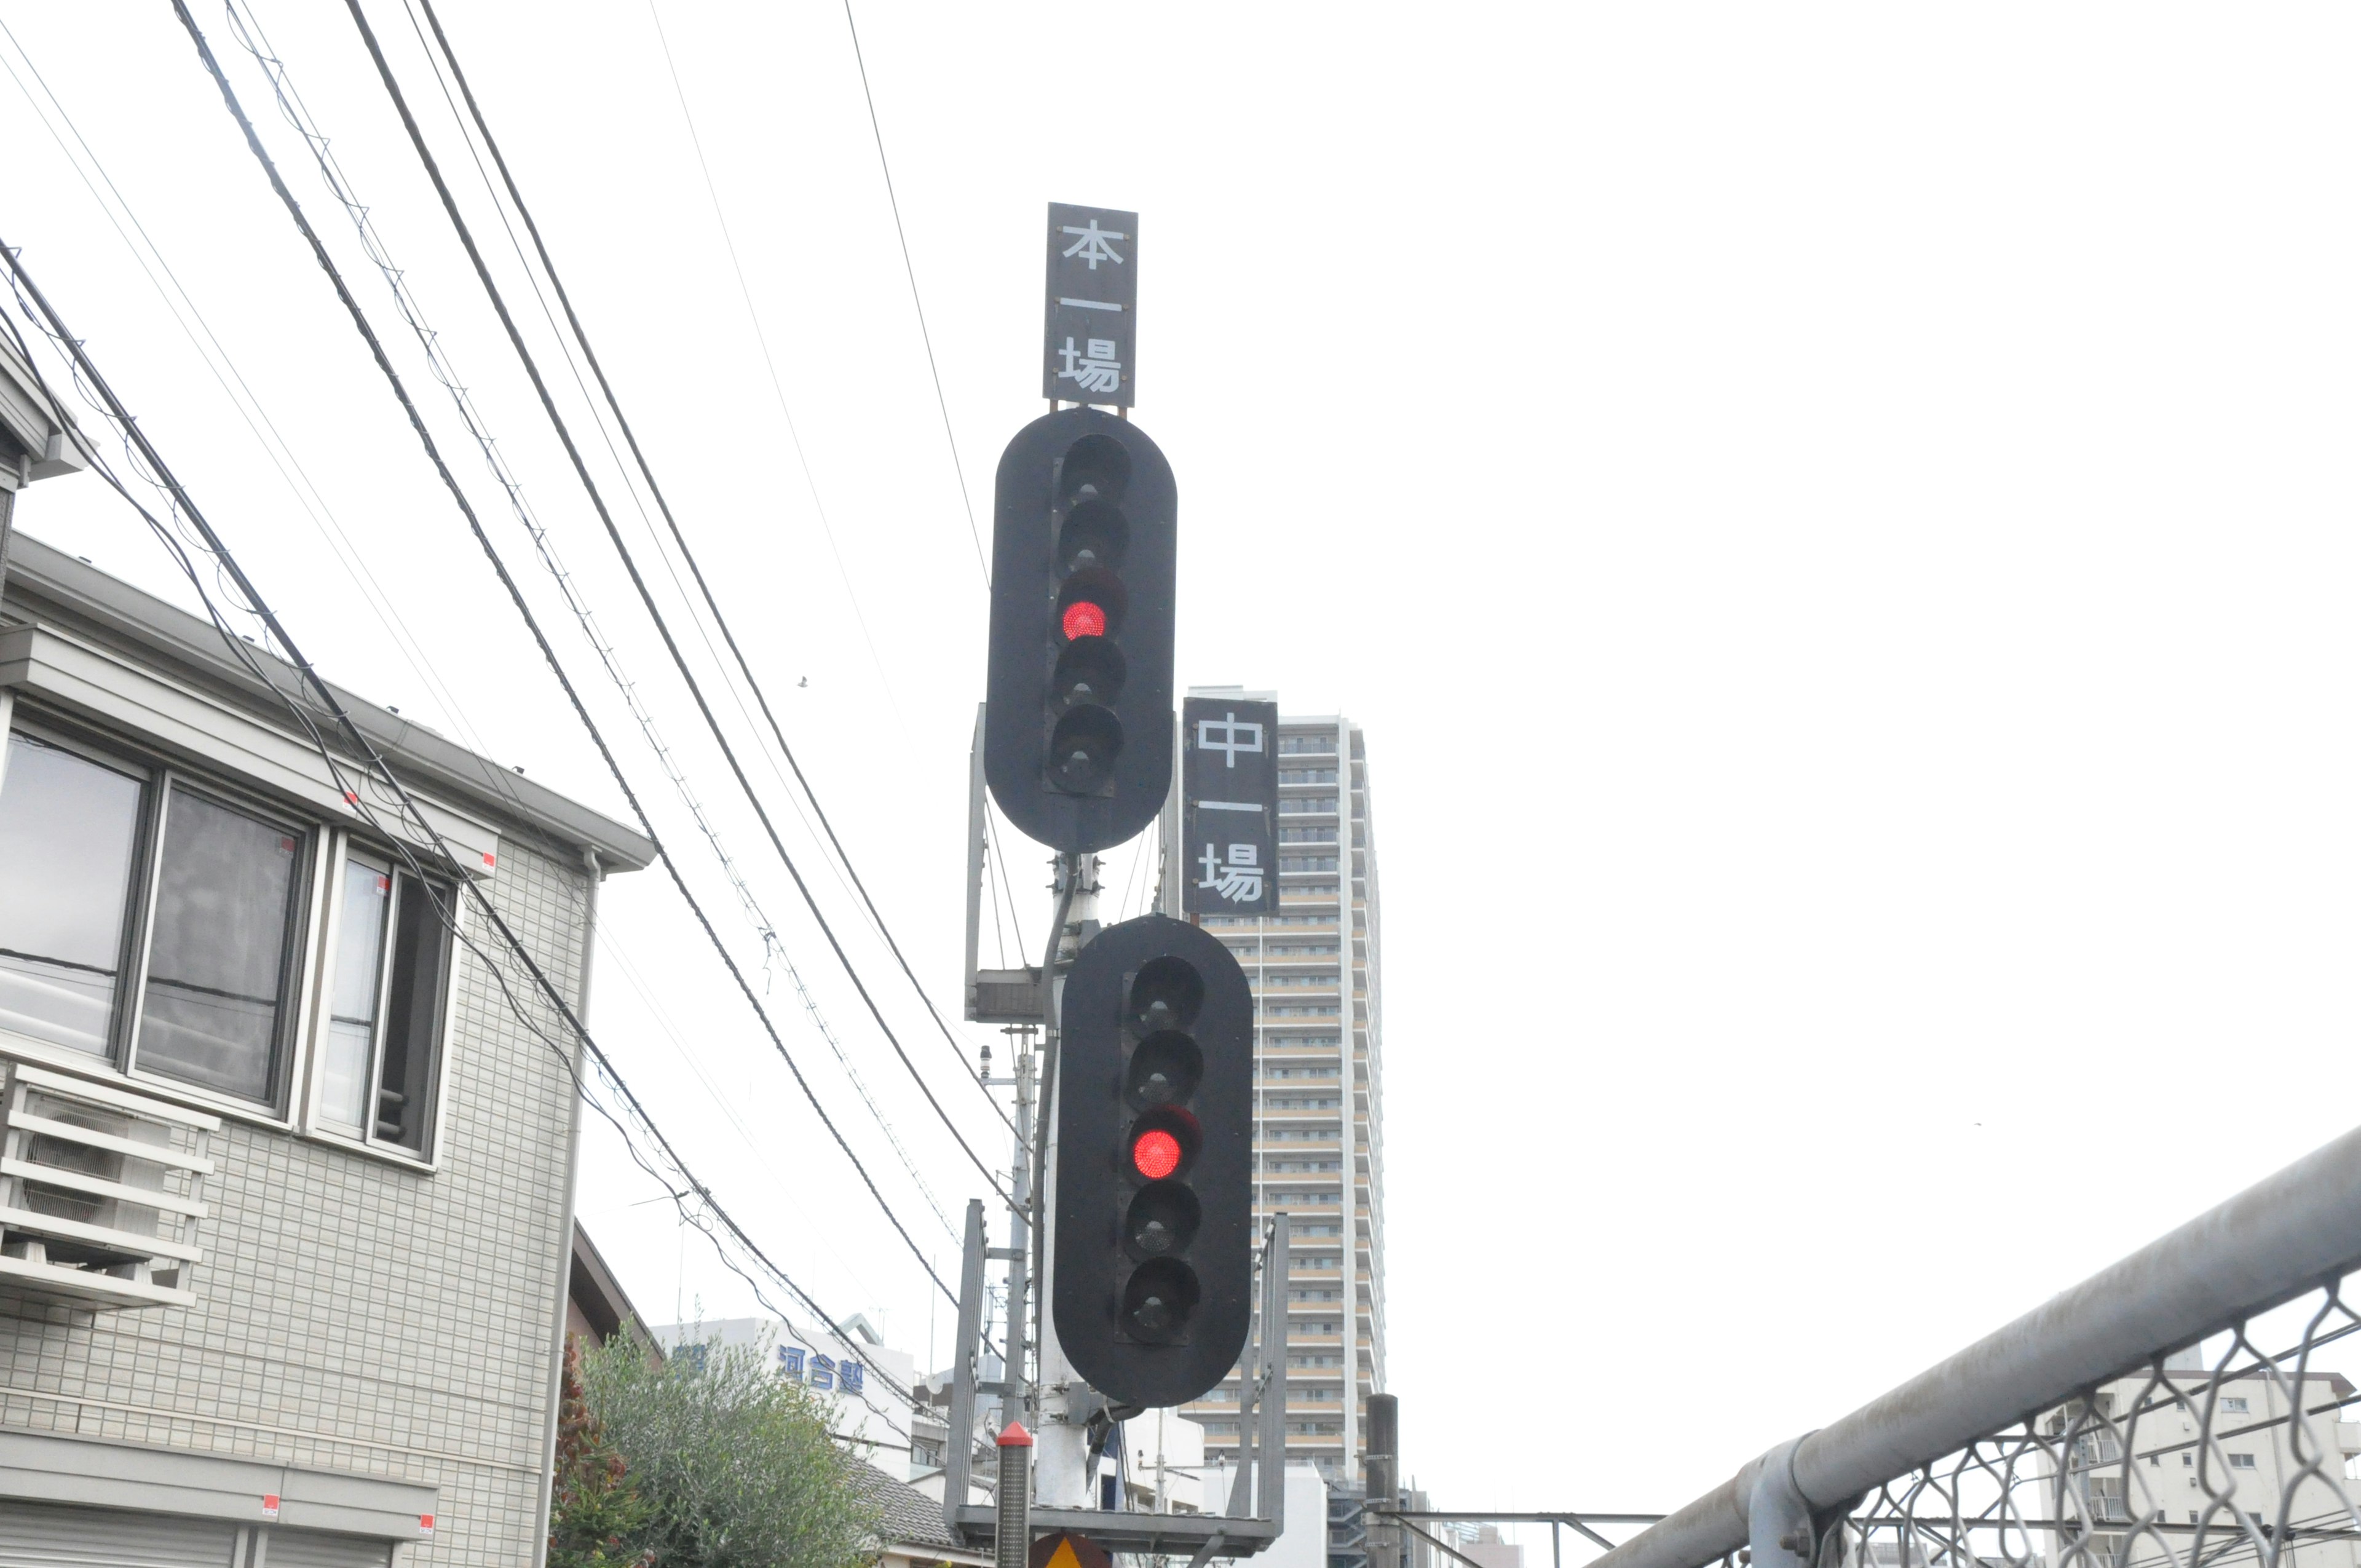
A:
{"type": "MultiPolygon", "coordinates": [[[[0,364],[19,484],[24,406],[0,364]]],[[[0,560],[0,1559],[534,1563],[578,1096],[463,888],[581,1008],[600,878],[654,850],[347,697],[427,827],[364,812],[366,770],[288,713],[295,668],[26,522],[0,560]]]]}

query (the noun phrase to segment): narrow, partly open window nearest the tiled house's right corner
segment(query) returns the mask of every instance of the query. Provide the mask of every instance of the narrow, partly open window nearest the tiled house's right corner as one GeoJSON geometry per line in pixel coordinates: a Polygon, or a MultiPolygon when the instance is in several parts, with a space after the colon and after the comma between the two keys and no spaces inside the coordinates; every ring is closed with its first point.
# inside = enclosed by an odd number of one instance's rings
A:
{"type": "Polygon", "coordinates": [[[449,982],[449,888],[357,845],[345,850],[321,1030],[323,1124],[425,1152],[449,982]]]}

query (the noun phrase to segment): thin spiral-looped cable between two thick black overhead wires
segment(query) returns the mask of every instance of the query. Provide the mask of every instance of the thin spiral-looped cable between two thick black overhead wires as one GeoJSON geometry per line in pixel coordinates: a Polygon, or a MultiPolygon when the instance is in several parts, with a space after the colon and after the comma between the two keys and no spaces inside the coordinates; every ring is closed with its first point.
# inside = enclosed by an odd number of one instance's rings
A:
{"type": "MultiPolygon", "coordinates": [[[[425,314],[423,314],[418,300],[411,295],[408,286],[404,283],[401,269],[392,260],[390,246],[385,246],[385,239],[375,231],[375,224],[368,217],[368,205],[361,203],[361,198],[354,194],[352,184],[347,182],[342,168],[328,153],[328,137],[319,130],[316,123],[312,123],[309,111],[300,102],[300,94],[293,94],[293,83],[286,76],[283,61],[279,61],[276,54],[267,52],[267,47],[260,47],[255,43],[255,38],[248,35],[248,31],[241,24],[241,17],[236,12],[236,5],[229,5],[227,9],[229,9],[231,28],[238,33],[243,47],[262,66],[264,76],[272,83],[272,92],[279,97],[279,106],[286,113],[288,123],[297,130],[297,135],[305,137],[305,144],[312,149],[312,156],[319,163],[319,172],[321,172],[321,179],[326,179],[328,191],[352,215],[352,222],[354,222],[354,227],[359,229],[359,236],[361,236],[361,248],[368,253],[371,262],[375,262],[375,267],[385,274],[385,281],[387,281],[387,286],[394,293],[394,307],[401,312],[401,319],[418,335],[418,345],[425,352],[427,366],[432,368],[434,378],[444,385],[446,392],[451,392],[451,401],[456,404],[456,409],[460,413],[460,420],[467,425],[467,432],[475,437],[477,451],[482,451],[482,456],[484,456],[484,465],[491,470],[493,479],[498,479],[503,494],[508,496],[508,503],[510,503],[510,510],[517,517],[517,524],[534,541],[534,550],[541,557],[541,564],[557,581],[557,588],[564,595],[567,607],[574,612],[574,619],[581,626],[583,638],[590,642],[590,649],[597,654],[602,668],[607,671],[607,678],[614,682],[616,692],[623,697],[626,711],[630,713],[633,723],[640,725],[642,739],[647,741],[649,751],[656,753],[656,760],[663,765],[666,777],[673,782],[673,789],[680,793],[682,805],[687,808],[689,817],[696,822],[696,829],[704,834],[706,845],[713,850],[713,857],[720,862],[722,874],[727,876],[732,890],[739,897],[741,909],[746,912],[746,919],[763,935],[763,961],[765,961],[765,966],[770,966],[772,956],[777,956],[777,961],[786,968],[786,978],[793,982],[796,994],[803,999],[803,1008],[812,1018],[812,1027],[819,1030],[819,1037],[826,1041],[829,1051],[836,1053],[838,1065],[843,1065],[845,1077],[852,1079],[852,1089],[859,1093],[862,1103],[869,1108],[869,1115],[876,1119],[878,1131],[885,1133],[885,1143],[902,1159],[902,1169],[909,1171],[909,1178],[918,1188],[918,1195],[926,1197],[928,1209],[935,1211],[935,1221],[944,1228],[947,1235],[956,1235],[956,1230],[951,1228],[951,1216],[944,1211],[942,1200],[935,1197],[935,1190],[928,1185],[926,1176],[918,1171],[916,1159],[909,1155],[907,1148],[902,1148],[902,1138],[892,1131],[892,1122],[885,1119],[885,1112],[878,1108],[876,1098],[869,1093],[869,1084],[862,1082],[862,1074],[852,1065],[852,1058],[845,1056],[845,1048],[836,1039],[836,1032],[829,1027],[826,1015],[822,1015],[819,1004],[812,997],[810,987],[803,982],[803,975],[798,973],[793,959],[786,956],[786,945],[779,940],[777,928],[772,926],[770,916],[763,912],[760,902],[756,900],[753,888],[746,883],[746,876],[739,871],[737,857],[730,852],[730,845],[722,843],[720,831],[706,817],[704,803],[696,798],[694,786],[689,784],[687,775],[680,770],[680,763],[675,760],[673,749],[663,741],[663,734],[656,727],[654,713],[649,713],[647,704],[640,701],[637,682],[633,682],[623,673],[614,645],[597,628],[597,619],[593,616],[590,605],[581,597],[581,590],[576,588],[574,576],[564,569],[564,562],[557,560],[557,550],[555,550],[555,543],[548,536],[548,529],[543,529],[541,520],[534,517],[534,510],[531,510],[531,505],[524,498],[524,486],[517,482],[517,477],[508,470],[508,463],[501,458],[498,442],[493,442],[491,430],[484,425],[484,418],[477,411],[475,399],[467,394],[467,387],[465,387],[465,383],[458,375],[458,368],[451,364],[451,359],[446,357],[446,352],[442,347],[442,335],[434,333],[427,326],[425,314]]],[[[763,1015],[765,1027],[770,1027],[770,1018],[760,1008],[760,1004],[756,1006],[756,1011],[758,1011],[758,1015],[763,1015]]],[[[784,1051],[784,1046],[781,1046],[781,1051],[784,1051]]]]}

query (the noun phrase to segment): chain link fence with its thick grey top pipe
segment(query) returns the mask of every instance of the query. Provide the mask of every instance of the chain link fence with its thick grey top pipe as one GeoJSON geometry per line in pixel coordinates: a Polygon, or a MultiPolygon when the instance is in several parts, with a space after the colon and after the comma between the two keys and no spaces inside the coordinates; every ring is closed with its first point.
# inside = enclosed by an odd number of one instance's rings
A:
{"type": "Polygon", "coordinates": [[[2361,1568],[2361,1131],[1598,1568],[2361,1568]]]}

